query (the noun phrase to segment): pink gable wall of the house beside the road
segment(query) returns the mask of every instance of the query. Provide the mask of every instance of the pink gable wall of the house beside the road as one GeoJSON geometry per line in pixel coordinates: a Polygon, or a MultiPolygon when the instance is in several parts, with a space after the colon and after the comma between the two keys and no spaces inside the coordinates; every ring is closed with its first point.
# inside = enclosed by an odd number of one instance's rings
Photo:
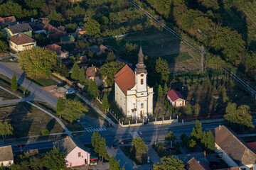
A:
{"type": "Polygon", "coordinates": [[[65,163],[67,167],[81,166],[85,165],[85,159],[87,160],[87,164],[90,164],[90,153],[85,152],[79,147],[75,147],[75,149],[65,157],[65,163]],[[81,157],[78,157],[78,152],[81,152],[81,157]]]}

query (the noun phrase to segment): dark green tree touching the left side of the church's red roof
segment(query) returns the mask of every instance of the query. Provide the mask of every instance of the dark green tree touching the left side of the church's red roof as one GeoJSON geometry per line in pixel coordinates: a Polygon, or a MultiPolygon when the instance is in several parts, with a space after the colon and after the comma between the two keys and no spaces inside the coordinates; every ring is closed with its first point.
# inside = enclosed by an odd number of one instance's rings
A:
{"type": "Polygon", "coordinates": [[[119,72],[120,69],[124,67],[123,62],[108,62],[100,67],[100,77],[106,79],[107,86],[112,86],[114,84],[114,75],[119,72]]]}

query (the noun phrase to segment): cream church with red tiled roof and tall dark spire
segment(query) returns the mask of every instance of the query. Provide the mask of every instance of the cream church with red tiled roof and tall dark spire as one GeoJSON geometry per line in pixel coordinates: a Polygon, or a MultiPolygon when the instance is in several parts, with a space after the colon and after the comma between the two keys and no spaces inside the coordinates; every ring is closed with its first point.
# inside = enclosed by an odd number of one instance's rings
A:
{"type": "Polygon", "coordinates": [[[153,88],[146,84],[142,47],[134,72],[126,64],[114,75],[114,101],[127,117],[145,119],[153,115],[153,88]]]}

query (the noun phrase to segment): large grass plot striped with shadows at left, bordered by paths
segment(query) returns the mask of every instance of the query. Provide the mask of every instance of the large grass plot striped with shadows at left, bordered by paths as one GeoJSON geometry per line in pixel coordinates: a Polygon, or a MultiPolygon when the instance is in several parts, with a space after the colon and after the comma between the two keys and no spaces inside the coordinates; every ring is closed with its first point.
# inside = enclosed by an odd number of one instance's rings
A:
{"type": "Polygon", "coordinates": [[[11,123],[15,137],[27,137],[41,135],[41,130],[48,129],[50,133],[64,132],[63,128],[55,119],[38,110],[28,103],[16,103],[0,107],[0,120],[11,123]]]}

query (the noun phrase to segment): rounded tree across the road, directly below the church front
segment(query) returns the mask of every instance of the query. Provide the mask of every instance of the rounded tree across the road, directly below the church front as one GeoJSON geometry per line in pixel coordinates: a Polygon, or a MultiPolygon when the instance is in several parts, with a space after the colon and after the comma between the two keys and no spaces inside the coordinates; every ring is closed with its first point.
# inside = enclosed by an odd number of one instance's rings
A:
{"type": "Polygon", "coordinates": [[[132,152],[134,152],[136,159],[142,162],[142,156],[146,154],[147,146],[141,137],[135,137],[132,140],[132,152]]]}

